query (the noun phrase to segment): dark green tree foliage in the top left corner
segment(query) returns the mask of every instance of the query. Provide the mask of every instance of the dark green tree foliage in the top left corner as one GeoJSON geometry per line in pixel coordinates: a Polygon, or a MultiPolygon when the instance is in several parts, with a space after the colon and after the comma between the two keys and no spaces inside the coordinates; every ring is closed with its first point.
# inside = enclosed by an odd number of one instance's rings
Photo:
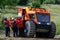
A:
{"type": "Polygon", "coordinates": [[[20,0],[0,0],[0,8],[5,8],[5,6],[16,6],[20,0]]]}

